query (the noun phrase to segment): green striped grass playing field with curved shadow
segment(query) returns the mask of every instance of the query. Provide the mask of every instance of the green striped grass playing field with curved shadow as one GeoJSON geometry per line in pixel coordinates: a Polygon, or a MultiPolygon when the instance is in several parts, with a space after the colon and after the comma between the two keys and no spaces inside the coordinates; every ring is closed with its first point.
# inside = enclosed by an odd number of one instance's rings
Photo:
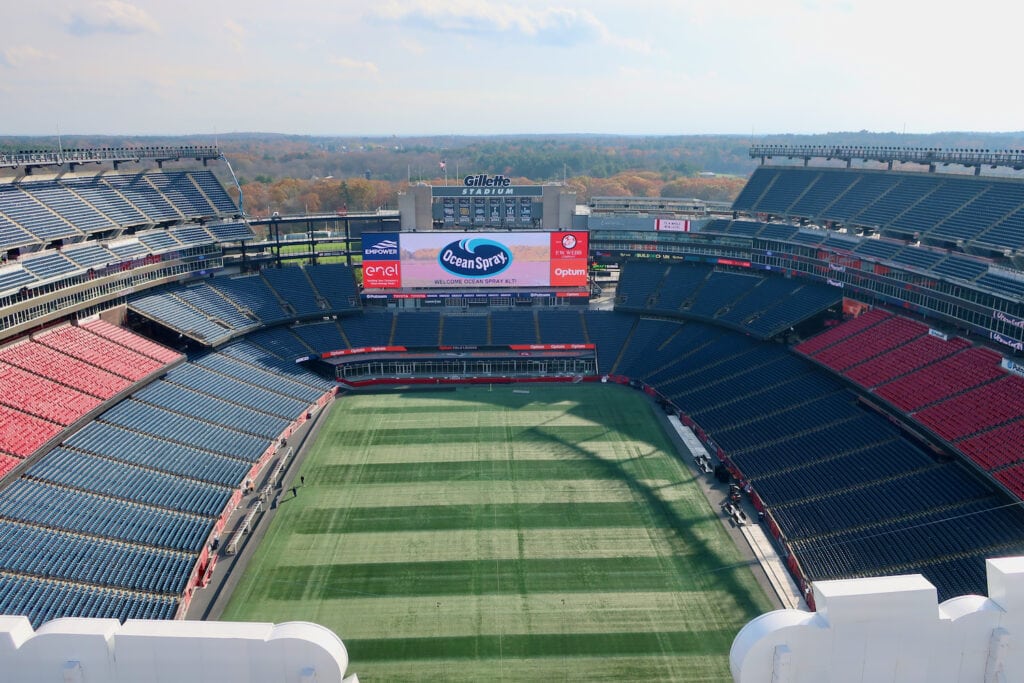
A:
{"type": "Polygon", "coordinates": [[[730,680],[771,604],[647,398],[517,388],[337,400],[224,618],[323,624],[362,681],[730,680]]]}

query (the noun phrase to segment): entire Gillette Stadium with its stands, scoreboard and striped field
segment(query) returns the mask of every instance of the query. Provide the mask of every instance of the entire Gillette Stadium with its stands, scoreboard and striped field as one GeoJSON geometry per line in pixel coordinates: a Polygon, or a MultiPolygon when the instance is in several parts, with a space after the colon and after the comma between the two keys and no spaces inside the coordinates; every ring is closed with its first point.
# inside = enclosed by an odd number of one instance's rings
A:
{"type": "MultiPolygon", "coordinates": [[[[217,680],[341,680],[345,647],[368,680],[721,680],[744,624],[833,582],[1011,612],[1024,182],[981,171],[1024,155],[750,155],[715,215],[414,187],[263,221],[216,147],[0,156],[4,671],[93,680],[109,647],[137,676],[206,634],[251,664],[217,680]]],[[[779,647],[731,674],[814,680],[779,647]]]]}

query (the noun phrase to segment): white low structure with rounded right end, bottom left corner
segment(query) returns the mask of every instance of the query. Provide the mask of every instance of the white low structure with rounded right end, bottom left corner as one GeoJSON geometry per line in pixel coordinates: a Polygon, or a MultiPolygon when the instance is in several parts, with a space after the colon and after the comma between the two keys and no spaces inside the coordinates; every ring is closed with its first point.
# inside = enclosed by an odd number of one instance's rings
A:
{"type": "Polygon", "coordinates": [[[0,616],[0,683],[358,683],[316,624],[0,616]]]}

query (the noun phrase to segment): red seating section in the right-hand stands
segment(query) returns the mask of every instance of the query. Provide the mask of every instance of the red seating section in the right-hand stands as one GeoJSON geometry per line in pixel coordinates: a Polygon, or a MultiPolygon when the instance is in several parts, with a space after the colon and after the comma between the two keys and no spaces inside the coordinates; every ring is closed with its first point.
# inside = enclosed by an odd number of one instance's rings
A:
{"type": "Polygon", "coordinates": [[[1005,371],[995,351],[881,309],[796,350],[905,412],[1024,498],[1024,482],[999,477],[1024,461],[1024,378],[1005,371]]]}

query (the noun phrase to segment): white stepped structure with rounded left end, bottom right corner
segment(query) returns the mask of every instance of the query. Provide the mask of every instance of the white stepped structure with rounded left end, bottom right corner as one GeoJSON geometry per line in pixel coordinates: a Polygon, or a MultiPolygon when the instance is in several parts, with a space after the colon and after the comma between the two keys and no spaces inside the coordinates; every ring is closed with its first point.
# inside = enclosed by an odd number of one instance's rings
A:
{"type": "Polygon", "coordinates": [[[988,598],[938,604],[921,574],[813,584],[817,612],[780,609],[732,642],[737,683],[1024,681],[1024,557],[987,560],[988,598]]]}

